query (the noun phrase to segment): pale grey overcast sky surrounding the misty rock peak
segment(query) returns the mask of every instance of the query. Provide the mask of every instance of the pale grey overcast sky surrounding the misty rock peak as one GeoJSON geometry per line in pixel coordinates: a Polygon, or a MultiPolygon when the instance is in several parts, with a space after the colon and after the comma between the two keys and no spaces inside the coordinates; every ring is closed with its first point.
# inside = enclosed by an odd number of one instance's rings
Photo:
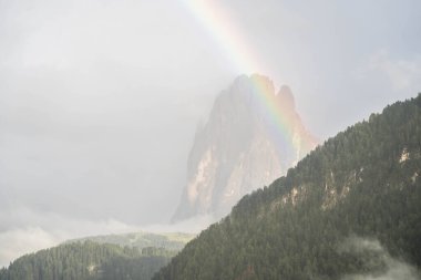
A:
{"type": "Polygon", "coordinates": [[[321,142],[415,96],[420,10],[0,0],[0,266],[78,236],[168,229],[197,124],[239,74],[289,85],[321,142]]]}

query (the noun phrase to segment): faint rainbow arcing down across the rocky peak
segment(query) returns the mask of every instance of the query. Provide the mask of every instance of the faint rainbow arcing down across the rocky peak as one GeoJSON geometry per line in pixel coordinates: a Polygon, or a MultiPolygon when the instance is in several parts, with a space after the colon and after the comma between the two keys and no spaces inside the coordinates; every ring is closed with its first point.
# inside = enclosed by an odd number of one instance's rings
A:
{"type": "MultiPolygon", "coordinates": [[[[223,52],[239,73],[251,75],[253,73],[267,73],[269,69],[264,65],[263,60],[251,49],[230,17],[225,12],[223,7],[217,1],[184,1],[187,10],[194,18],[202,23],[207,32],[214,38],[217,45],[223,49],[223,52]]],[[[290,117],[287,117],[283,104],[274,92],[274,89],[268,89],[264,79],[251,75],[254,92],[260,106],[265,108],[268,115],[268,121],[273,124],[277,139],[287,143],[294,151],[299,151],[300,144],[294,141],[294,124],[290,117]]],[[[279,144],[283,145],[283,144],[279,144]]]]}

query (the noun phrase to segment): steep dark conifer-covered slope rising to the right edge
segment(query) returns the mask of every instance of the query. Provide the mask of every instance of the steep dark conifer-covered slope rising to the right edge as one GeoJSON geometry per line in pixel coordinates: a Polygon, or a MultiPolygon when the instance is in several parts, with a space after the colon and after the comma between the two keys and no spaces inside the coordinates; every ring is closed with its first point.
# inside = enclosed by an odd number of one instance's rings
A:
{"type": "Polygon", "coordinates": [[[421,94],[245,196],[153,279],[419,280],[421,94]]]}

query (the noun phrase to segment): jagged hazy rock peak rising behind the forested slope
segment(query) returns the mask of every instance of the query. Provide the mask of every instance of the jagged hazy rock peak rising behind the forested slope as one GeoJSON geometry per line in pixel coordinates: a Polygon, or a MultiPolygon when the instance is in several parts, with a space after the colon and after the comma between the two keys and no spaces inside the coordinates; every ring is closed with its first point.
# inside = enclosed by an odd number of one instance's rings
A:
{"type": "Polygon", "coordinates": [[[237,77],[196,132],[173,220],[225,216],[240,197],[284,175],[316,145],[289,87],[275,94],[265,76],[237,77]]]}

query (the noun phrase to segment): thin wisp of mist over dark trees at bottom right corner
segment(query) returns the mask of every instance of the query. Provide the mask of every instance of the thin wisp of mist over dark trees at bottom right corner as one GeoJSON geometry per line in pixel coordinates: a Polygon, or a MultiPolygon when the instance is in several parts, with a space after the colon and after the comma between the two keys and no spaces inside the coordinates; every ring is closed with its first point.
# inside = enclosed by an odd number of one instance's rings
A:
{"type": "Polygon", "coordinates": [[[362,258],[368,267],[377,266],[381,263],[384,269],[381,271],[361,273],[361,274],[348,274],[341,278],[341,280],[420,280],[420,274],[414,267],[403,262],[389,255],[384,247],[376,239],[367,239],[360,237],[348,238],[339,248],[340,252],[348,252],[358,256],[369,256],[362,258]],[[367,263],[370,262],[370,263],[367,263]],[[374,265],[374,266],[376,266],[374,265]]]}

